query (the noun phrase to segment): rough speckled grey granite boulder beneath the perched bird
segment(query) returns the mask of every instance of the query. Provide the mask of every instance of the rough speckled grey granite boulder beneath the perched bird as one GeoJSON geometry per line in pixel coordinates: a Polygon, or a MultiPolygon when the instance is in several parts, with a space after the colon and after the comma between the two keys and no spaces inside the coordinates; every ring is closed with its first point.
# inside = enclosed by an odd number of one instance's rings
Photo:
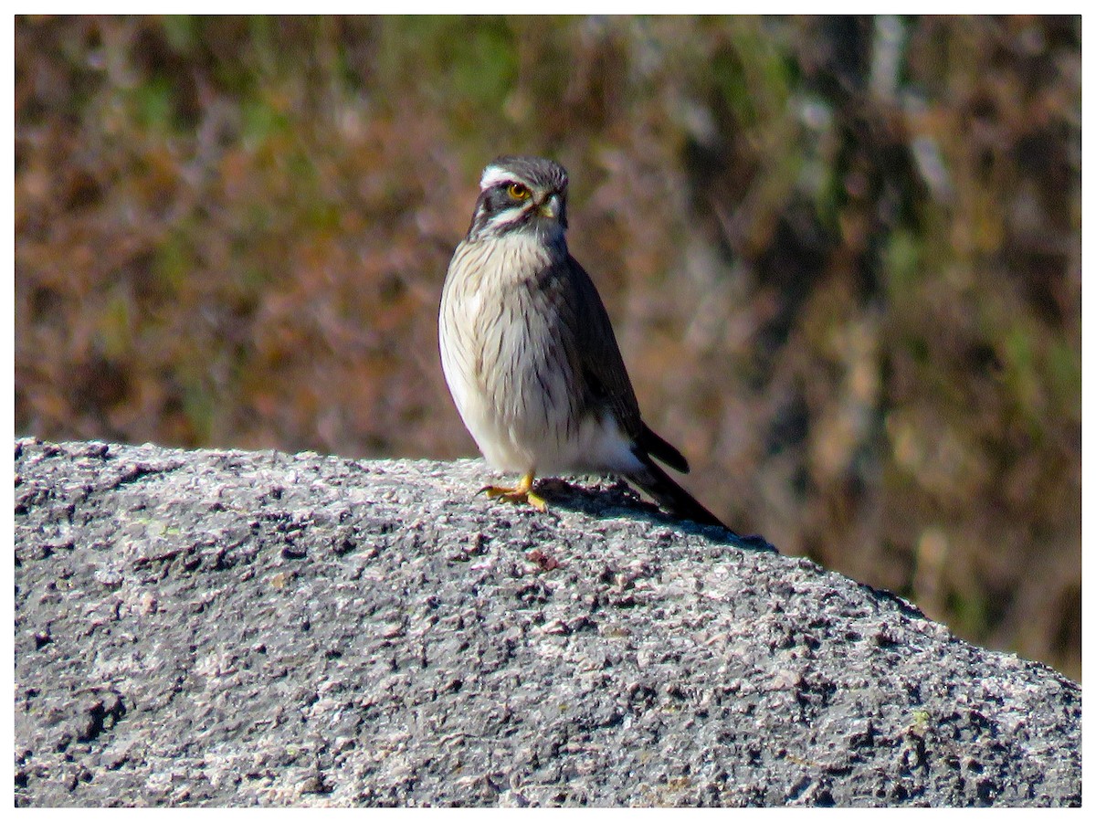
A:
{"type": "Polygon", "coordinates": [[[1081,693],[619,484],[15,443],[15,801],[1081,801],[1081,693]]]}

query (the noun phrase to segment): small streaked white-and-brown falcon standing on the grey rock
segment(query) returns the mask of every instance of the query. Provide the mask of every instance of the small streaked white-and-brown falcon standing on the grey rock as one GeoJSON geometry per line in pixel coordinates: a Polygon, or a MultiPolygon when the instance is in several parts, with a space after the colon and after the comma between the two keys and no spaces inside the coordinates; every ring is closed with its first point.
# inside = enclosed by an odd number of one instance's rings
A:
{"type": "Polygon", "coordinates": [[[568,250],[567,186],[553,160],[491,161],[442,287],[454,404],[487,461],[521,477],[480,491],[546,511],[537,476],[615,473],[674,516],[726,528],[659,465],[689,470],[640,416],[605,305],[568,250]]]}

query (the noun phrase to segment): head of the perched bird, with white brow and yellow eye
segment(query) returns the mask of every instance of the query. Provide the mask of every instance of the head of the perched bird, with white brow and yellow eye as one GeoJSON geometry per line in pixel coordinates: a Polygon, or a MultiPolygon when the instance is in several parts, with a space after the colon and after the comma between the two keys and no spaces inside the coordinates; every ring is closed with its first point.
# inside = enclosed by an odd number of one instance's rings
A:
{"type": "Polygon", "coordinates": [[[567,171],[543,157],[500,157],[483,169],[469,239],[530,232],[562,242],[567,229],[567,171]]]}

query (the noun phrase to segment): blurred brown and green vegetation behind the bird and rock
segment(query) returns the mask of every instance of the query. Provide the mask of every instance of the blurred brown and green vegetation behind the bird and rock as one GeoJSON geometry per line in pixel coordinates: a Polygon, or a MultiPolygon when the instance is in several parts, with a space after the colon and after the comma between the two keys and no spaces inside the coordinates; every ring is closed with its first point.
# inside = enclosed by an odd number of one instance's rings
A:
{"type": "Polygon", "coordinates": [[[476,454],[479,173],[571,173],[742,533],[1081,676],[1080,18],[19,18],[15,430],[476,454]]]}

